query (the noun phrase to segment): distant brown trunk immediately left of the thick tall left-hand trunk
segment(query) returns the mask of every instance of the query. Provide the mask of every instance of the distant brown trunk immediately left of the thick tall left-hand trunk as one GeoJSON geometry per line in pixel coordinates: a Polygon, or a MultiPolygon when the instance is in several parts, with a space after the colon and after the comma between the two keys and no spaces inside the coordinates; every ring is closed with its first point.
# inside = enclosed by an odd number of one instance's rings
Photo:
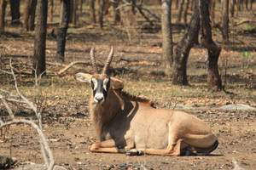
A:
{"type": "Polygon", "coordinates": [[[24,8],[24,24],[26,31],[33,31],[35,28],[37,0],[27,0],[24,8]]]}

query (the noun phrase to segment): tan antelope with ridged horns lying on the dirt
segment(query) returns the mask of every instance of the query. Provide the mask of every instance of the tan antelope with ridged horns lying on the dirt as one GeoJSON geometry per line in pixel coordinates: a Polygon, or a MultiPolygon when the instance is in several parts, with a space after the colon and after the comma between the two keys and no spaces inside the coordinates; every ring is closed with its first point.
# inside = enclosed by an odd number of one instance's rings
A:
{"type": "Polygon", "coordinates": [[[109,77],[113,47],[102,73],[98,73],[95,49],[90,50],[95,74],[77,73],[80,82],[90,82],[90,116],[100,140],[91,152],[127,155],[208,155],[218,147],[211,127],[183,111],[157,109],[153,102],[123,91],[124,83],[109,77]]]}

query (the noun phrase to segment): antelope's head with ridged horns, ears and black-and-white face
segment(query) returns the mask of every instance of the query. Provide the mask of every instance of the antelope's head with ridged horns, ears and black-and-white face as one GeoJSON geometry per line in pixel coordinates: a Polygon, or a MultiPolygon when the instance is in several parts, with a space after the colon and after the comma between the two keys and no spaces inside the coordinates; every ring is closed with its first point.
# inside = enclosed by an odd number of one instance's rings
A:
{"type": "Polygon", "coordinates": [[[108,68],[113,59],[113,47],[111,47],[110,53],[106,64],[103,67],[102,73],[98,73],[95,59],[95,49],[90,50],[90,61],[94,68],[95,74],[90,75],[87,73],[79,72],[75,75],[75,78],[80,82],[90,82],[93,94],[93,100],[96,103],[103,103],[107,99],[107,95],[110,89],[122,89],[124,84],[117,78],[111,78],[108,76],[108,68]]]}

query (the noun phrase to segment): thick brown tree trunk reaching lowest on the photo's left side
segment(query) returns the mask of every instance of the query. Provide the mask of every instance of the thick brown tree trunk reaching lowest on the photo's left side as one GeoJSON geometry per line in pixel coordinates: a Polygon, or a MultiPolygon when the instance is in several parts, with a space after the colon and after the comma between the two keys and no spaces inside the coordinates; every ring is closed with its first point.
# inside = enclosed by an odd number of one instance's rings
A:
{"type": "Polygon", "coordinates": [[[36,71],[37,75],[45,74],[47,8],[48,0],[38,0],[33,57],[33,71],[36,71]]]}

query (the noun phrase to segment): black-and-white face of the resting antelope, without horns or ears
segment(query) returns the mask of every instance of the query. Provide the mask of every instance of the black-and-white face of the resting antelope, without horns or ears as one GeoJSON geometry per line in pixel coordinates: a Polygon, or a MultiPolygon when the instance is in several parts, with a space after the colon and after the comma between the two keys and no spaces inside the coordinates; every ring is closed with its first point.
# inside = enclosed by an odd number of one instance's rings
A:
{"type": "Polygon", "coordinates": [[[110,87],[110,77],[91,77],[91,88],[93,91],[93,100],[96,103],[103,103],[108,95],[110,87]]]}

